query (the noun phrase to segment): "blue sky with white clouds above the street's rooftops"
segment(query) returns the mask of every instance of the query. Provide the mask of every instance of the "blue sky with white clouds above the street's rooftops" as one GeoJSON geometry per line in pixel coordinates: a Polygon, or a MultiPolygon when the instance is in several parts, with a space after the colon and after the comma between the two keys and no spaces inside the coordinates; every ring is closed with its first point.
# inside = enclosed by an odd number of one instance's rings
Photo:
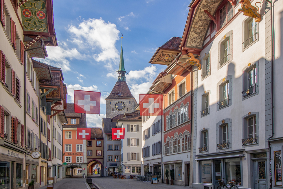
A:
{"type": "Polygon", "coordinates": [[[170,38],[182,37],[190,1],[54,0],[58,47],[47,47],[41,62],[60,67],[73,103],[73,88],[101,93],[100,115],[87,115],[88,127],[101,127],[105,98],[116,83],[121,34],[126,81],[137,102],[165,66],[148,62],[170,38]]]}

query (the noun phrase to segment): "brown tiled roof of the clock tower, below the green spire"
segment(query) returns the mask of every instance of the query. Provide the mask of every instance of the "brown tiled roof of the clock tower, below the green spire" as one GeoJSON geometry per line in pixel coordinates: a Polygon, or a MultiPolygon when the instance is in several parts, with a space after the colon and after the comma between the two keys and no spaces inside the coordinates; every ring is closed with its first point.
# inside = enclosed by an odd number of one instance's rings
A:
{"type": "Polygon", "coordinates": [[[134,98],[126,81],[117,81],[113,87],[110,95],[106,99],[129,99],[134,98]],[[113,93],[115,93],[113,95],[113,93]],[[118,94],[121,93],[123,96],[119,97],[118,94]]]}

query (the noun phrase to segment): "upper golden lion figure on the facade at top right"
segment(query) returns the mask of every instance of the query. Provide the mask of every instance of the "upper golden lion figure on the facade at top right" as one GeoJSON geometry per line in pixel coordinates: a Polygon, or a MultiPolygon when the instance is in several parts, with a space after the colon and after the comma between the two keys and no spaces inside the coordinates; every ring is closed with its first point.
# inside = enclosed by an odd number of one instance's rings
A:
{"type": "MultiPolygon", "coordinates": [[[[240,0],[241,8],[238,9],[239,12],[243,12],[245,16],[253,17],[255,22],[259,22],[261,20],[261,15],[258,13],[259,7],[252,6],[249,0],[240,0]]],[[[256,2],[260,3],[260,2],[256,2]]]]}

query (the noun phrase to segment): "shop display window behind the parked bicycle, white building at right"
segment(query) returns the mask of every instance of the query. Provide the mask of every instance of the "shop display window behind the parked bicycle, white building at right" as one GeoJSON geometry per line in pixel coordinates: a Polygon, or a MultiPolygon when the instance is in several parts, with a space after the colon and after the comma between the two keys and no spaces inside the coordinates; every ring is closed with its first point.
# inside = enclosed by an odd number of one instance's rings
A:
{"type": "Polygon", "coordinates": [[[240,158],[225,159],[226,181],[241,185],[241,161],[240,158]]]}

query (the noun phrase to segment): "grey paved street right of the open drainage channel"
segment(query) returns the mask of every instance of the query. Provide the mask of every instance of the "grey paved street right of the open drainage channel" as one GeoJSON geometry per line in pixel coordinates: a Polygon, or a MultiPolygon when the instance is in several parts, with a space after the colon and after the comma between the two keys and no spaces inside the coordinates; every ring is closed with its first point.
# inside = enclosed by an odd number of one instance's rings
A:
{"type": "Polygon", "coordinates": [[[132,179],[113,179],[113,177],[91,177],[92,181],[100,187],[100,189],[109,188],[109,189],[148,189],[148,188],[174,188],[174,189],[185,189],[186,186],[171,186],[165,184],[151,184],[151,182],[141,182],[133,181],[132,179]]]}

